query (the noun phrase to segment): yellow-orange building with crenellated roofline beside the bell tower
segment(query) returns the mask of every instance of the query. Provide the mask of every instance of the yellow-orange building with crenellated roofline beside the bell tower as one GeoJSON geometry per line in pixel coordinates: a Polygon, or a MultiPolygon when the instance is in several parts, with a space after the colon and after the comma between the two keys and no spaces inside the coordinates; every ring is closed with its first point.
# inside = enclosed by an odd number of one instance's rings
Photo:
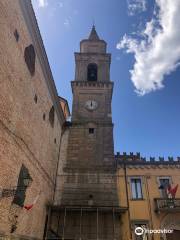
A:
{"type": "Polygon", "coordinates": [[[180,191],[170,198],[167,187],[180,182],[180,159],[163,158],[147,161],[140,154],[116,155],[118,189],[121,205],[128,210],[122,215],[122,239],[180,239],[180,191]],[[154,233],[136,235],[137,227],[154,233]],[[158,230],[173,230],[159,233],[158,230]]]}

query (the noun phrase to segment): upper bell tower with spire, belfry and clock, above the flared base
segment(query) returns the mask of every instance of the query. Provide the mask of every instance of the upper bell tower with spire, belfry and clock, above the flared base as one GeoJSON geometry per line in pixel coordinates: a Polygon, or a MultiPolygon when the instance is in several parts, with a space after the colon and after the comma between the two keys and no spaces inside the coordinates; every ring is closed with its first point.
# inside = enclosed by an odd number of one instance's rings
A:
{"type": "Polygon", "coordinates": [[[100,40],[95,26],[75,53],[72,129],[67,163],[78,167],[106,167],[114,164],[110,81],[111,54],[100,40]],[[77,146],[77,149],[72,146],[77,146]]]}

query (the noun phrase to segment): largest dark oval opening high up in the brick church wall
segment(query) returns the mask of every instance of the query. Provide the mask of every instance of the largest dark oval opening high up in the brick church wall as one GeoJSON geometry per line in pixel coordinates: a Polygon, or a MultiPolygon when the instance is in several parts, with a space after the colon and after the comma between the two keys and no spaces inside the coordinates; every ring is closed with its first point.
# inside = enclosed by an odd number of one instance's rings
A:
{"type": "Polygon", "coordinates": [[[35,50],[34,50],[33,45],[30,44],[24,50],[24,60],[26,62],[28,70],[32,76],[35,73],[35,59],[36,59],[35,50]]]}

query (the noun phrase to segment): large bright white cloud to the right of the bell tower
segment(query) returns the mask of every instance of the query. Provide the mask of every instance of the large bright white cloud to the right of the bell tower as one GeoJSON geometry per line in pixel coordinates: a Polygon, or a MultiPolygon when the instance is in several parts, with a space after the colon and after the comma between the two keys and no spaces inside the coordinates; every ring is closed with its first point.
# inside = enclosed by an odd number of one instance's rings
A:
{"type": "Polygon", "coordinates": [[[124,35],[117,44],[134,54],[131,80],[140,95],[161,89],[165,75],[180,63],[180,1],[156,0],[156,5],[159,11],[146,23],[141,38],[124,35]]]}

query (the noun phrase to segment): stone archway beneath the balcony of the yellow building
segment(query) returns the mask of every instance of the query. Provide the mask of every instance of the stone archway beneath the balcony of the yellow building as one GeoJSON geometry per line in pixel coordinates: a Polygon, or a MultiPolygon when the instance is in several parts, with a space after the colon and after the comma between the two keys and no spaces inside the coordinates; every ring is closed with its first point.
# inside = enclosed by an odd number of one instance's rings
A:
{"type": "Polygon", "coordinates": [[[172,229],[173,233],[162,234],[163,240],[180,239],[180,213],[167,214],[161,221],[161,229],[172,229]]]}

